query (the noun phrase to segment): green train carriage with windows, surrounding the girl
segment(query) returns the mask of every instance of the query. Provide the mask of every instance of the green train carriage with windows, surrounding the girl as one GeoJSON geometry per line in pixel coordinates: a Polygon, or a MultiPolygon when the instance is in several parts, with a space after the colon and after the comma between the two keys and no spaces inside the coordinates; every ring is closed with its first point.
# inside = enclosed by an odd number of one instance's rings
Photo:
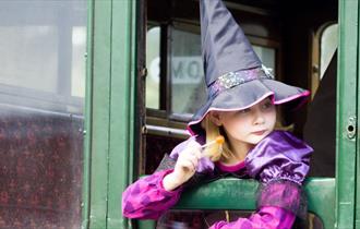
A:
{"type": "MultiPolygon", "coordinates": [[[[358,228],[359,2],[224,2],[276,79],[312,92],[281,112],[315,149],[309,228],[358,228]]],[[[206,99],[199,1],[5,0],[0,12],[0,228],[154,228],[121,215],[121,193],[189,136],[206,99]]],[[[204,228],[187,213],[253,210],[256,186],[221,179],[172,212],[204,228]]]]}

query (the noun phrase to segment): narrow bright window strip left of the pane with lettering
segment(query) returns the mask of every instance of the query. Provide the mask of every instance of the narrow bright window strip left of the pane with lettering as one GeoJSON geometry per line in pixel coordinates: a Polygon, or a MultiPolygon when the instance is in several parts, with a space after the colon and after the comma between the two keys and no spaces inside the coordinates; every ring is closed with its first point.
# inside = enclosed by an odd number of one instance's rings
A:
{"type": "Polygon", "coordinates": [[[151,28],[146,35],[146,107],[159,109],[160,94],[160,27],[151,28]]]}

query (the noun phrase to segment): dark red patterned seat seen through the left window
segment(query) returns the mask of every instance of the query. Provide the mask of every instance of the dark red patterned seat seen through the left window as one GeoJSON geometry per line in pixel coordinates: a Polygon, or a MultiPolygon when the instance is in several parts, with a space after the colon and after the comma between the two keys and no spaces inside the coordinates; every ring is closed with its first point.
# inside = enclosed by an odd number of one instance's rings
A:
{"type": "Polygon", "coordinates": [[[83,117],[0,104],[0,228],[81,224],[83,117]]]}

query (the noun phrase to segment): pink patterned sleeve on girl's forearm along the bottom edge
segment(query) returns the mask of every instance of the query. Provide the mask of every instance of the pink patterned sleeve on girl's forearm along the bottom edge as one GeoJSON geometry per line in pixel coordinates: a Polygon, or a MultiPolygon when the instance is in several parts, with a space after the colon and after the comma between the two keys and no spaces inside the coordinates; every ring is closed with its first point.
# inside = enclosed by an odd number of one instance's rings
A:
{"type": "Polygon", "coordinates": [[[290,229],[296,216],[280,207],[262,207],[249,218],[218,221],[209,229],[290,229]]]}

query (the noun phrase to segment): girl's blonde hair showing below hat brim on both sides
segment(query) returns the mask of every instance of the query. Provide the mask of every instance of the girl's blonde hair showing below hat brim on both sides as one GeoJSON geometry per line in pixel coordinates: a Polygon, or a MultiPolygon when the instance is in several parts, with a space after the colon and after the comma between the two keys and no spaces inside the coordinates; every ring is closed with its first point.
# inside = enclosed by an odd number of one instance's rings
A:
{"type": "MultiPolygon", "coordinates": [[[[276,109],[276,113],[280,113],[279,109],[276,109]]],[[[212,161],[217,161],[221,157],[230,158],[232,156],[232,152],[229,147],[229,143],[227,140],[227,135],[225,133],[225,130],[223,130],[223,126],[216,125],[211,120],[211,114],[208,113],[204,120],[202,121],[202,128],[205,130],[206,133],[206,143],[213,142],[216,140],[217,136],[223,135],[225,137],[225,142],[223,145],[218,144],[212,144],[205,148],[205,155],[211,158],[212,161]]],[[[276,122],[274,130],[285,130],[285,131],[291,131],[293,129],[293,125],[285,126],[281,122],[281,117],[276,116],[276,122]]]]}

